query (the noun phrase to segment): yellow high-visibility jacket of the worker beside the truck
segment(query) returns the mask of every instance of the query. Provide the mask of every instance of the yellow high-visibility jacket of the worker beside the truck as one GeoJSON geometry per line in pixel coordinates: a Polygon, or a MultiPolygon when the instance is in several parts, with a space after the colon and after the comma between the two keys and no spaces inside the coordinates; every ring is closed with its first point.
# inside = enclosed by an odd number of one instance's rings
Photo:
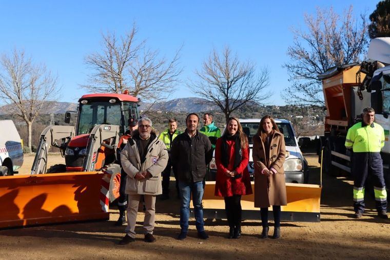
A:
{"type": "Polygon", "coordinates": [[[383,146],[383,127],[377,123],[359,122],[348,129],[345,147],[353,148],[354,153],[379,152],[383,146]]]}

